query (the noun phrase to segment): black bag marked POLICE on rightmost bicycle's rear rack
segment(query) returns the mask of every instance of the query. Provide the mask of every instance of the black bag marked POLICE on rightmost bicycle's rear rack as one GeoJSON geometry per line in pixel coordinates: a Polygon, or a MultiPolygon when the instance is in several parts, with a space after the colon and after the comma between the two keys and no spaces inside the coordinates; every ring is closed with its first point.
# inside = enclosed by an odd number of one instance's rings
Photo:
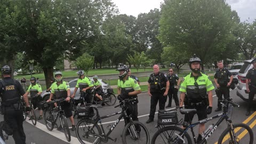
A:
{"type": "Polygon", "coordinates": [[[158,110],[158,121],[159,125],[171,125],[178,123],[178,116],[176,110],[158,110]]]}

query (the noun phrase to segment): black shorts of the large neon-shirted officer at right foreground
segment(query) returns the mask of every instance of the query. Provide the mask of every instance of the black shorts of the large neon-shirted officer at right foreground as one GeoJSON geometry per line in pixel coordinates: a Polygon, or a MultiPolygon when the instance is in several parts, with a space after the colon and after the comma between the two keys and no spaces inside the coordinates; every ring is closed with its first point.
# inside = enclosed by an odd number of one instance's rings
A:
{"type": "MultiPolygon", "coordinates": [[[[193,107],[193,106],[185,106],[186,109],[196,109],[196,114],[198,116],[198,121],[207,118],[207,106],[203,105],[200,107],[193,107]]],[[[184,121],[189,122],[189,117],[190,121],[192,121],[193,117],[195,114],[186,114],[184,121]]]]}

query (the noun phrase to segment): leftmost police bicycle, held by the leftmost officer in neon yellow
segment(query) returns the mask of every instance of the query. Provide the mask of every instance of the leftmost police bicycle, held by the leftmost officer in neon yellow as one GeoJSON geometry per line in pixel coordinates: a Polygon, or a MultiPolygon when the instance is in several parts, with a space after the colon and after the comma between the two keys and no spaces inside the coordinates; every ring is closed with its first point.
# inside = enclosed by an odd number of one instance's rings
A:
{"type": "Polygon", "coordinates": [[[27,111],[26,111],[25,101],[21,98],[21,104],[22,104],[22,108],[23,108],[22,109],[23,110],[23,121],[25,121],[27,118],[27,115],[29,115],[30,116],[29,120],[32,121],[33,125],[36,125],[36,113],[35,113],[33,104],[31,103],[31,97],[28,97],[28,103],[29,103],[29,107],[30,107],[29,113],[27,113],[27,111]]]}

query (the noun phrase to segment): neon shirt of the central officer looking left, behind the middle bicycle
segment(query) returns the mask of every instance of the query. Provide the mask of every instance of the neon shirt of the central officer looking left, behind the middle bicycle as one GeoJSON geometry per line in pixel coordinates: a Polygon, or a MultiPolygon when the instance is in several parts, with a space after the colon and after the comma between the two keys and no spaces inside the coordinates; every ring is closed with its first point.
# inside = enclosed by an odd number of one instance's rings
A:
{"type": "MultiPolygon", "coordinates": [[[[130,77],[127,77],[125,81],[118,79],[117,87],[119,89],[121,89],[121,93],[123,90],[129,91],[129,92],[140,90],[140,85],[138,84],[138,82],[135,79],[130,78],[130,77]]],[[[134,96],[136,96],[136,95],[134,95],[134,96]]],[[[121,94],[121,97],[123,99],[127,99],[127,97],[123,97],[122,94],[121,94]]],[[[132,98],[132,97],[129,97],[129,98],[132,98]]]]}

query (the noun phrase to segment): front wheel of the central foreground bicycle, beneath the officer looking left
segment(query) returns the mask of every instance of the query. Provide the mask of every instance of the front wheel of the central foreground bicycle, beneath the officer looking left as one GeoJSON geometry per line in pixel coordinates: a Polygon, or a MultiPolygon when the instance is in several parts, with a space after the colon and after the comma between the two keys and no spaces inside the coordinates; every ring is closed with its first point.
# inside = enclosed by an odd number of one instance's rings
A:
{"type": "Polygon", "coordinates": [[[122,134],[122,141],[124,144],[141,144],[149,143],[149,133],[145,125],[138,121],[126,124],[122,134]]]}

